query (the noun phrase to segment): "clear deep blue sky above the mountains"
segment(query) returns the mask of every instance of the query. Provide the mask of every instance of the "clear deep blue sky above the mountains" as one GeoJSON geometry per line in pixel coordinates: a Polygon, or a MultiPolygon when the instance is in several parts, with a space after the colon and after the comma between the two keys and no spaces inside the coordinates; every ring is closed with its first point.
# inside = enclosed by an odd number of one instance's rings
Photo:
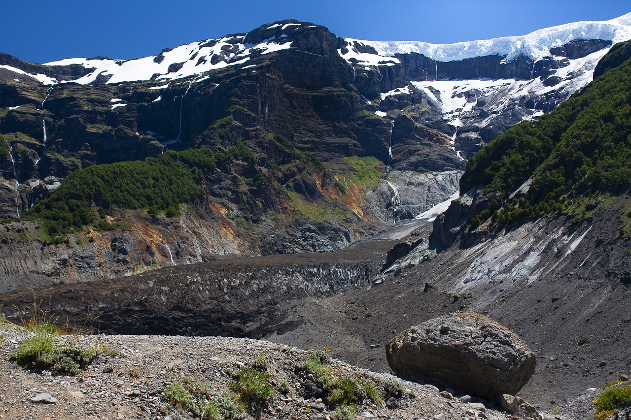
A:
{"type": "Polygon", "coordinates": [[[133,59],[292,18],[342,37],[450,44],[608,20],[631,6],[622,0],[4,0],[1,10],[0,52],[48,62],[133,59]]]}

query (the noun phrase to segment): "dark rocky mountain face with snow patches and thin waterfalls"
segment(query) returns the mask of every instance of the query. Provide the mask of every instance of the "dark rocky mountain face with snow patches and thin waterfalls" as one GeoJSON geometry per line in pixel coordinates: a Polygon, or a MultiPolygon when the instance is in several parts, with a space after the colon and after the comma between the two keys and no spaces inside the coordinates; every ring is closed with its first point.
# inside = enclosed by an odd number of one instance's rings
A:
{"type": "Polygon", "coordinates": [[[9,64],[19,62],[1,55],[0,214],[17,218],[3,240],[21,244],[7,250],[15,263],[6,274],[85,279],[225,252],[339,249],[454,195],[467,158],[587,83],[608,42],[566,44],[555,50],[561,55],[536,62],[524,55],[504,63],[498,56],[435,62],[420,54],[380,57],[324,26],[290,20],[136,61],[91,60],[105,63],[101,68],[38,67],[45,78],[57,71],[85,83],[53,86],[20,73],[30,64],[11,71],[9,64]],[[122,81],[125,74],[137,77],[134,63],[148,66],[146,81],[122,81]],[[441,72],[473,79],[436,80],[441,72]],[[524,79],[502,79],[520,74],[524,79]],[[69,238],[58,230],[53,236],[62,236],[48,237],[41,224],[21,220],[76,170],[129,161],[117,170],[131,175],[146,166],[134,161],[165,151],[179,165],[191,158],[181,155],[187,149],[198,158],[204,148],[225,156],[239,142],[253,160],[238,154],[214,166],[206,158],[189,165],[187,177],[201,183],[201,199],[155,208],[141,199],[146,207],[105,209],[98,196],[82,197],[81,208],[89,209],[83,214],[93,217],[81,223],[97,221],[69,238]],[[430,194],[418,197],[419,191],[430,194]],[[180,228],[172,230],[173,219],[160,219],[160,212],[180,218],[180,228]],[[204,232],[201,242],[190,226],[204,232]],[[41,255],[21,255],[29,241],[41,244],[41,255]],[[73,249],[56,250],[59,259],[50,264],[42,256],[60,241],[73,249]],[[92,252],[103,257],[86,264],[92,252]],[[25,265],[45,268],[23,274],[25,265]]]}

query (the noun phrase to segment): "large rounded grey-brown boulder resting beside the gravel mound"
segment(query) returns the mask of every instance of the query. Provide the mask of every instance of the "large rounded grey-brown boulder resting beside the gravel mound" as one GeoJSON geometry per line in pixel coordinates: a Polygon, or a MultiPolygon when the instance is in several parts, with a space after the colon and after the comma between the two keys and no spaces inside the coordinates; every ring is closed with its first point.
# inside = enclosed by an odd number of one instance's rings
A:
{"type": "Polygon", "coordinates": [[[517,394],[536,363],[517,334],[475,312],[411,327],[388,342],[386,356],[395,372],[437,378],[491,399],[517,394]]]}

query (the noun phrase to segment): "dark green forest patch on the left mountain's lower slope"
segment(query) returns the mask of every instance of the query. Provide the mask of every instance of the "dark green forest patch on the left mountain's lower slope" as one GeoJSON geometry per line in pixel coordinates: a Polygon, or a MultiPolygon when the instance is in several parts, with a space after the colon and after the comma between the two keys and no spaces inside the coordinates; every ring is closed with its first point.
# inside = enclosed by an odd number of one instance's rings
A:
{"type": "Polygon", "coordinates": [[[201,199],[203,190],[196,182],[204,173],[235,160],[254,161],[244,142],[237,141],[221,152],[209,148],[168,151],[146,161],[89,166],[68,175],[59,189],[23,218],[39,219],[45,234],[55,238],[88,225],[111,230],[105,215],[115,208],[178,216],[179,204],[201,199]]]}

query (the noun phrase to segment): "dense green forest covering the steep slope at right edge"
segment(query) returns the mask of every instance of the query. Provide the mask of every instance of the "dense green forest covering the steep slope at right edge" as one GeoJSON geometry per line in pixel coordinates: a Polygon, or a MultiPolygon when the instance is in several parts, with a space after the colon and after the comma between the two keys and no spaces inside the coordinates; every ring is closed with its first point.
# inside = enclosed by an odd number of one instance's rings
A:
{"type": "Polygon", "coordinates": [[[550,114],[521,122],[466,165],[461,189],[483,185],[501,200],[472,220],[500,224],[566,213],[579,218],[606,190],[631,182],[631,61],[611,69],[550,114]],[[508,199],[526,180],[521,197],[508,199]]]}

